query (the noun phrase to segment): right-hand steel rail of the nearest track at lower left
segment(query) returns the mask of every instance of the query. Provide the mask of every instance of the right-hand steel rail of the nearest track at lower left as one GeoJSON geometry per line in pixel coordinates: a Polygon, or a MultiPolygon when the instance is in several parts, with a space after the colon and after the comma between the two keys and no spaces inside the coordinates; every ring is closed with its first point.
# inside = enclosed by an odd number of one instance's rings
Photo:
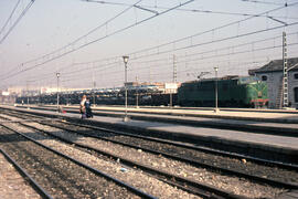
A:
{"type": "Polygon", "coordinates": [[[141,191],[141,190],[139,190],[139,189],[137,189],[137,188],[135,188],[135,187],[128,185],[128,184],[125,184],[125,182],[121,181],[121,180],[118,180],[118,179],[116,179],[116,178],[114,178],[114,177],[111,177],[111,176],[109,176],[109,175],[107,175],[107,174],[105,174],[105,172],[103,172],[103,171],[100,171],[100,170],[98,170],[98,169],[96,169],[96,168],[93,168],[93,167],[91,167],[91,166],[88,166],[88,165],[86,165],[86,164],[84,164],[84,163],[82,163],[82,161],[78,161],[78,160],[76,160],[76,159],[74,159],[74,158],[72,158],[72,157],[70,157],[70,156],[67,156],[67,155],[65,155],[65,154],[63,154],[63,153],[60,153],[60,151],[57,151],[57,150],[55,150],[55,149],[53,149],[53,148],[51,148],[51,147],[47,147],[47,146],[43,145],[42,143],[40,143],[40,142],[35,140],[35,139],[33,139],[33,138],[31,138],[31,137],[29,137],[29,136],[26,136],[26,135],[24,135],[24,134],[22,134],[22,133],[19,133],[19,132],[17,132],[17,130],[14,130],[13,128],[10,128],[10,127],[8,127],[8,126],[3,126],[3,127],[7,128],[7,129],[9,129],[9,130],[11,130],[11,132],[13,132],[13,133],[15,133],[15,134],[21,135],[22,137],[24,137],[24,138],[26,138],[26,139],[33,142],[34,144],[36,144],[36,145],[39,145],[39,146],[41,146],[41,147],[43,147],[43,148],[45,148],[45,149],[47,149],[47,150],[54,153],[54,154],[56,154],[56,155],[58,155],[58,156],[61,156],[61,157],[64,157],[65,159],[68,159],[68,160],[71,160],[71,161],[73,161],[73,163],[76,164],[76,165],[79,165],[81,167],[84,167],[85,169],[91,170],[91,171],[94,172],[95,175],[103,176],[104,178],[106,178],[106,179],[108,179],[108,180],[111,180],[111,181],[116,182],[117,185],[127,188],[127,189],[130,190],[131,192],[134,192],[134,193],[136,193],[136,195],[138,195],[138,196],[140,196],[140,197],[142,197],[142,198],[156,199],[156,197],[153,197],[153,196],[151,196],[151,195],[148,195],[148,193],[146,193],[146,192],[143,192],[143,191],[141,191]]]}

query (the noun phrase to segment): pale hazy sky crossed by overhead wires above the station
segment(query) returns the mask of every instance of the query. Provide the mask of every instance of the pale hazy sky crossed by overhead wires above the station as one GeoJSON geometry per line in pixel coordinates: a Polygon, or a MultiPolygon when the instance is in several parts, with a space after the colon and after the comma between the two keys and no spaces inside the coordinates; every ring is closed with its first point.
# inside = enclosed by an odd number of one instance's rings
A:
{"type": "Polygon", "coordinates": [[[55,86],[57,72],[64,87],[121,86],[123,55],[128,81],[247,75],[281,59],[283,31],[298,56],[298,0],[35,0],[13,28],[30,2],[0,1],[0,88],[55,86]]]}

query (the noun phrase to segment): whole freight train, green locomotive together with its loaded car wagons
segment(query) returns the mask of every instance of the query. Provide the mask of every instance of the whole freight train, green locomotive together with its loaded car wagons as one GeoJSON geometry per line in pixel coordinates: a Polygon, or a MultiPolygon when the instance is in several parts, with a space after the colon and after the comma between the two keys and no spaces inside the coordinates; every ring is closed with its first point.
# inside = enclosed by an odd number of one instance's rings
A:
{"type": "MultiPolygon", "coordinates": [[[[184,82],[177,94],[164,94],[156,85],[129,86],[128,104],[161,106],[172,105],[212,107],[217,92],[219,107],[267,106],[267,84],[255,76],[225,76],[184,82]],[[216,88],[217,87],[217,88],[216,88]],[[170,100],[172,97],[172,100],[170,100]]],[[[91,102],[106,105],[123,105],[125,88],[88,90],[60,93],[61,104],[78,104],[87,94],[91,102]]],[[[31,104],[56,104],[56,94],[29,96],[31,104]]],[[[17,103],[28,102],[28,96],[17,98],[17,103]]]]}

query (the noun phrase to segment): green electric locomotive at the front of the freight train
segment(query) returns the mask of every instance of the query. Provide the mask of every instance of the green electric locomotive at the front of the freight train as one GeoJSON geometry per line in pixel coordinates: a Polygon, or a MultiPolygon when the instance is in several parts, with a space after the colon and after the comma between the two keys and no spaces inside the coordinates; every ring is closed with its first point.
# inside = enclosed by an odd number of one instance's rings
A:
{"type": "Polygon", "coordinates": [[[178,103],[181,106],[212,107],[215,105],[216,92],[220,107],[256,107],[268,104],[267,84],[255,76],[185,82],[179,87],[178,103]]]}

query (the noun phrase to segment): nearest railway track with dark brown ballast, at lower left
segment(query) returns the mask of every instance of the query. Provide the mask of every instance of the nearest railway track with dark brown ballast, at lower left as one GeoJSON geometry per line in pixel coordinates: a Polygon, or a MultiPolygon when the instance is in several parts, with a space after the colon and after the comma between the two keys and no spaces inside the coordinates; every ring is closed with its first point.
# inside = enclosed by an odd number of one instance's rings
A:
{"type": "Polygon", "coordinates": [[[2,148],[53,198],[96,198],[102,192],[155,198],[12,128],[1,130],[2,148]],[[102,185],[105,185],[104,187],[102,185]],[[107,188],[110,187],[108,190],[107,188]]]}

